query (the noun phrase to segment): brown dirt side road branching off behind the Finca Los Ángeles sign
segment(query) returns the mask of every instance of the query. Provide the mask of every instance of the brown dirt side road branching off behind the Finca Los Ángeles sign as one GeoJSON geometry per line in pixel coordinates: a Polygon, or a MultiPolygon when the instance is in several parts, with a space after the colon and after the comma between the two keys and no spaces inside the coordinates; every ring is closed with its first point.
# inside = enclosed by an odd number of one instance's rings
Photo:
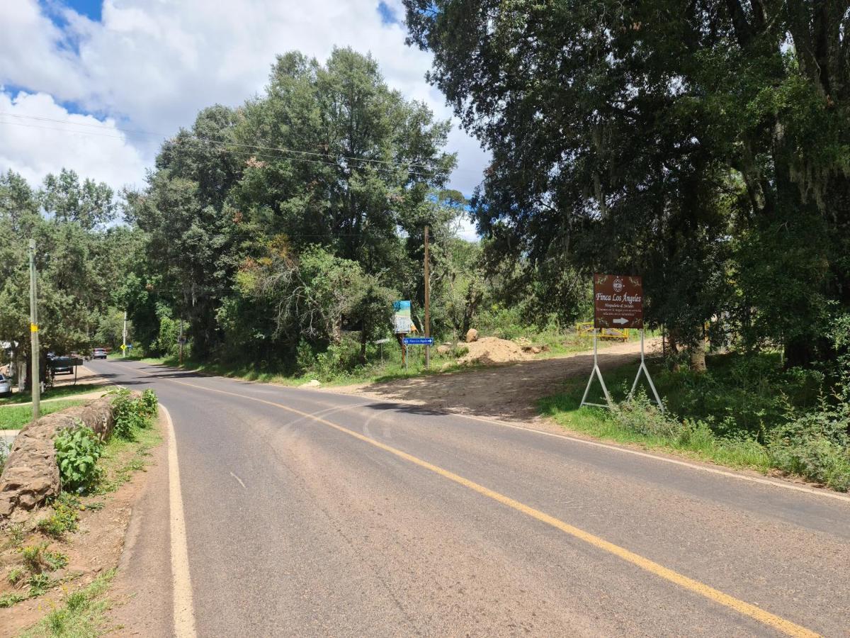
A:
{"type": "MultiPolygon", "coordinates": [[[[661,339],[647,339],[647,353],[660,350],[661,339]]],[[[636,361],[640,343],[612,345],[599,351],[603,370],[636,361]]],[[[423,405],[446,412],[530,421],[536,402],[561,389],[564,379],[586,377],[593,366],[592,350],[457,373],[434,374],[386,383],[344,385],[326,390],[423,405]]]]}

